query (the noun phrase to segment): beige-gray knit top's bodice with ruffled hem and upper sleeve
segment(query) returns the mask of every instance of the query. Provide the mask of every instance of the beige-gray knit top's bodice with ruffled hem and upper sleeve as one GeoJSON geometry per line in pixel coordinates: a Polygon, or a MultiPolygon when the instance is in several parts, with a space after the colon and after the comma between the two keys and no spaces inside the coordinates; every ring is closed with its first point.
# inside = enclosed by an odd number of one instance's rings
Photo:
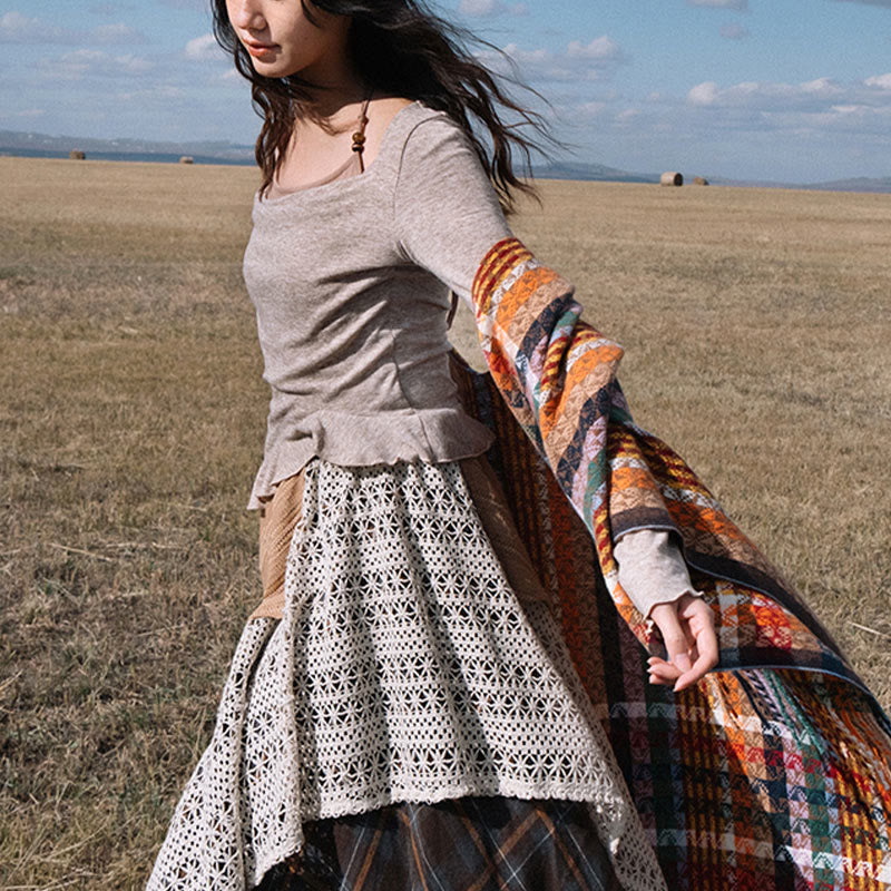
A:
{"type": "Polygon", "coordinates": [[[466,300],[510,229],[462,130],[399,111],[361,176],[254,200],[244,276],[272,388],[249,508],[312,457],[452,461],[491,433],[449,373],[449,288],[466,300]]]}

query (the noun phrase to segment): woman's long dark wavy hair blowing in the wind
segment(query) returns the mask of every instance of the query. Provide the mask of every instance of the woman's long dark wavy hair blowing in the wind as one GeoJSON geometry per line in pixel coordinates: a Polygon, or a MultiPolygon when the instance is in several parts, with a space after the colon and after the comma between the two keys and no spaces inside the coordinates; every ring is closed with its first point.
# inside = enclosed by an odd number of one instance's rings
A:
{"type": "MultiPolygon", "coordinates": [[[[448,112],[464,130],[489,174],[506,210],[517,192],[533,193],[528,179],[531,153],[550,141],[539,114],[523,108],[468,47],[498,50],[466,29],[434,14],[423,0],[293,0],[313,21],[313,8],[350,16],[349,51],[356,74],[376,94],[420,99],[448,112]],[[505,116],[512,118],[510,123],[505,116]],[[482,136],[471,121],[481,125],[482,136]],[[530,137],[529,134],[533,134],[530,137]],[[487,146],[486,139],[490,145],[487,146]],[[520,156],[520,173],[515,157],[520,156]]],[[[261,194],[272,185],[297,117],[313,112],[313,85],[296,75],[266,78],[258,75],[239,42],[226,11],[226,0],[213,0],[214,35],[233,55],[238,72],[251,81],[254,109],[263,118],[256,159],[263,172],[261,194]]],[[[521,86],[516,78],[507,78],[521,86]]],[[[538,96],[528,87],[530,94],[538,96]]],[[[539,97],[540,98],[540,97],[539,97]]]]}

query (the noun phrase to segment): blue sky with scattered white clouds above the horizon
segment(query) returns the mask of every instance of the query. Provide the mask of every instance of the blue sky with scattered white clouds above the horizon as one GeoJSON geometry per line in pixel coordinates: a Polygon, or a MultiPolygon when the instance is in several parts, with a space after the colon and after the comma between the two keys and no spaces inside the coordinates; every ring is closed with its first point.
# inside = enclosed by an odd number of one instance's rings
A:
{"type": "MultiPolygon", "coordinates": [[[[296,0],[295,0],[296,1],[296,0]]],[[[576,159],[891,176],[891,0],[441,0],[551,102],[576,159]]],[[[0,129],[253,143],[206,0],[0,0],[0,129]]]]}

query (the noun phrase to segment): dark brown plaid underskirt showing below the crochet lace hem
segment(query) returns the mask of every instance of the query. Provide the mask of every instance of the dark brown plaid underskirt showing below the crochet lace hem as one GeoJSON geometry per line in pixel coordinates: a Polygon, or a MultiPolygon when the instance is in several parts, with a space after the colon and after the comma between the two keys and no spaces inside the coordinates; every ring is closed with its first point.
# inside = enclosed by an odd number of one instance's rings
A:
{"type": "Polygon", "coordinates": [[[468,796],[304,825],[258,891],[618,891],[590,805],[468,796]]]}

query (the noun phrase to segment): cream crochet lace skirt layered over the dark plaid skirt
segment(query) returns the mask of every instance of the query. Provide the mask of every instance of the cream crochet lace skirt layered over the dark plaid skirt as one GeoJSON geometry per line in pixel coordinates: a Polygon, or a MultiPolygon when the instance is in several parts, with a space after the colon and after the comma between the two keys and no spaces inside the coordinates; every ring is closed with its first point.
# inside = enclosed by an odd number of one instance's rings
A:
{"type": "Polygon", "coordinates": [[[520,604],[458,463],[305,470],[283,619],[247,623],[148,883],[241,891],[302,823],[461,795],[594,803],[664,884],[546,603],[520,604]]]}

